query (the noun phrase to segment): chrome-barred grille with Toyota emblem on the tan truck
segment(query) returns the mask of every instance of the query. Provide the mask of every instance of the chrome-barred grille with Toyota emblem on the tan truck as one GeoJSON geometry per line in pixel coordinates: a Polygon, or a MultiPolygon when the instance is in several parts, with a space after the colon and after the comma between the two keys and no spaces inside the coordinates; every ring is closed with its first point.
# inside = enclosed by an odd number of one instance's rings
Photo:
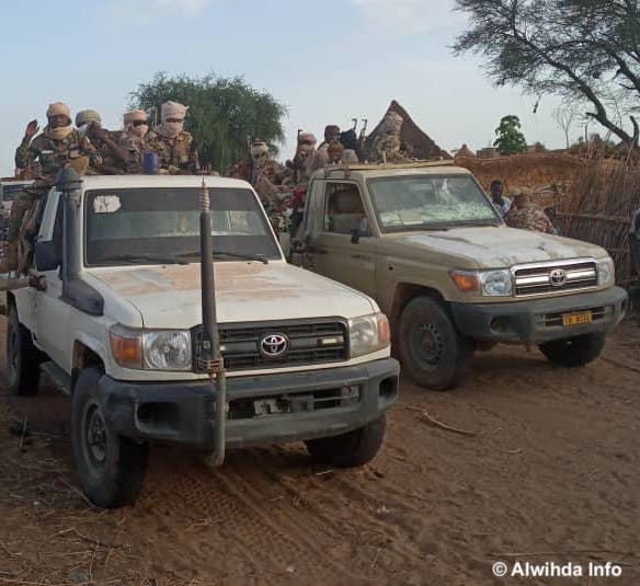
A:
{"type": "Polygon", "coordinates": [[[595,261],[521,266],[515,269],[515,295],[544,295],[597,286],[595,261]]]}

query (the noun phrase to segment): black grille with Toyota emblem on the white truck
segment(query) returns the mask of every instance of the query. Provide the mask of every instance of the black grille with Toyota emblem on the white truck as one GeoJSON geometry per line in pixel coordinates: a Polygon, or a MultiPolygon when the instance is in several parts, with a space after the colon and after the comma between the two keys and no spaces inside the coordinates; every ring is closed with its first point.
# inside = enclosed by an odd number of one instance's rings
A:
{"type": "MultiPolygon", "coordinates": [[[[196,326],[192,336],[194,364],[198,364],[202,326],[196,326]]],[[[346,360],[347,342],[346,323],[335,319],[220,325],[220,351],[228,370],[256,370],[346,360]],[[286,341],[286,347],[279,353],[283,340],[286,341]]]]}

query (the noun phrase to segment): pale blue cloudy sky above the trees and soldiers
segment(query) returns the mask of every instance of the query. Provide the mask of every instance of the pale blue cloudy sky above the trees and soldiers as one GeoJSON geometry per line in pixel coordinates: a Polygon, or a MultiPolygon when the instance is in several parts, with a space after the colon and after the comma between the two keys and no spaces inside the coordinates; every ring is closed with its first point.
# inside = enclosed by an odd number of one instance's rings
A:
{"type": "MultiPolygon", "coordinates": [[[[439,147],[489,146],[500,118],[519,116],[528,143],[564,146],[558,101],[494,88],[482,61],[455,57],[466,24],[454,0],[31,0],[0,3],[0,175],[27,122],[52,102],[95,108],[122,126],[129,93],[158,71],[242,77],[287,107],[297,129],[369,129],[397,100],[439,147]]],[[[574,128],[572,136],[580,135],[574,128]]]]}

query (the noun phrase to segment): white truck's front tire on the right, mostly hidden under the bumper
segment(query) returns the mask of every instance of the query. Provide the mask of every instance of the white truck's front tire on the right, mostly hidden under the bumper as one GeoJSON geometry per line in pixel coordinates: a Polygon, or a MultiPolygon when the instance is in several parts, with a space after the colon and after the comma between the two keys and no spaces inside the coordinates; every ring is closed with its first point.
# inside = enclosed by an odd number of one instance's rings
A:
{"type": "Polygon", "coordinates": [[[311,458],[318,463],[336,468],[355,468],[370,462],[382,446],[386,420],[382,415],[364,427],[340,436],[305,441],[311,458]]]}

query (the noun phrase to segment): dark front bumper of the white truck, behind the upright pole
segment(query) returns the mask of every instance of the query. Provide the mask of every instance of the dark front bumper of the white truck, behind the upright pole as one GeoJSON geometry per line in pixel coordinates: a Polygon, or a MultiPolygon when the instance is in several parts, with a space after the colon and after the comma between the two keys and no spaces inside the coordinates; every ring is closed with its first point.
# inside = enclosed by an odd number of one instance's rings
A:
{"type": "MultiPolygon", "coordinates": [[[[344,434],[380,417],[398,399],[400,367],[393,358],[358,366],[227,379],[226,446],[299,441],[344,434]],[[340,399],[345,387],[357,400],[340,399]],[[255,401],[283,413],[255,414],[255,401]],[[270,406],[271,405],[271,406],[270,406]]],[[[107,425],[118,435],[213,449],[215,390],[207,380],[99,382],[107,425]]]]}

